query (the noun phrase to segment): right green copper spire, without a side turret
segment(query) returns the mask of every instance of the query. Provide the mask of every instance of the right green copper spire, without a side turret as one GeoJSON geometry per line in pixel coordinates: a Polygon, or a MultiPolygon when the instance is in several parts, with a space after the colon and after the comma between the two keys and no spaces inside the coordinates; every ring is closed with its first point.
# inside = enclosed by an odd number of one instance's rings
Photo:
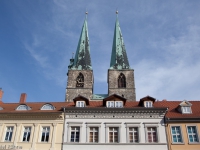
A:
{"type": "Polygon", "coordinates": [[[116,14],[117,18],[115,22],[110,69],[130,69],[122,32],[118,21],[118,11],[116,11],[116,14]]]}

